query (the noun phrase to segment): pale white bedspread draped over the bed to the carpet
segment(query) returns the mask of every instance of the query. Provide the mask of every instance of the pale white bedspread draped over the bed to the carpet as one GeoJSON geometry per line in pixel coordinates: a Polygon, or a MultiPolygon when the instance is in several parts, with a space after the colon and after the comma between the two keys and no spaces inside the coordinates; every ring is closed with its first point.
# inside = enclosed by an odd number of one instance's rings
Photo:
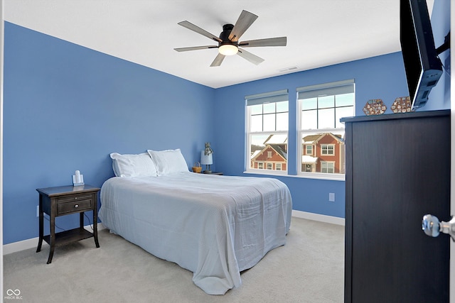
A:
{"type": "Polygon", "coordinates": [[[191,270],[208,294],[225,294],[241,285],[240,271],[286,243],[291,204],[287,186],[272,178],[112,177],[102,185],[100,219],[156,257],[191,270]]]}

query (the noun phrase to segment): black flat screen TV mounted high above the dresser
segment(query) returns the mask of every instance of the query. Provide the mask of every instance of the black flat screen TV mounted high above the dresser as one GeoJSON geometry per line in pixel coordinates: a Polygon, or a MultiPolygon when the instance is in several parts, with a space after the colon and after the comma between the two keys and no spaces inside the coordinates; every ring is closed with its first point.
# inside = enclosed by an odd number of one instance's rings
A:
{"type": "Polygon", "coordinates": [[[412,109],[418,109],[442,75],[426,0],[400,0],[400,43],[412,109]]]}

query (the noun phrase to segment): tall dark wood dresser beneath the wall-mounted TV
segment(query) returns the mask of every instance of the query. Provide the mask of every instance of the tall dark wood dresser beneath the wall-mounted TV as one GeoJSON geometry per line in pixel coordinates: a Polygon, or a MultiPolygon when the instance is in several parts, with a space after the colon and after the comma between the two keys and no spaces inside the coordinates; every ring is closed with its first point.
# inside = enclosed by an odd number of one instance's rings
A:
{"type": "Polygon", "coordinates": [[[449,302],[450,111],[358,116],[346,126],[345,302],[449,302]]]}

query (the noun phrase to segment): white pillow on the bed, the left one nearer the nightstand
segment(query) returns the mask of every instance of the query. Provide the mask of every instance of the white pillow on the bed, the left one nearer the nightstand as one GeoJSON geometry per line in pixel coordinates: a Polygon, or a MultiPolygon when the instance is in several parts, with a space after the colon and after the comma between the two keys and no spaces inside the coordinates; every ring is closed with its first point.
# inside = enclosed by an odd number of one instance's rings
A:
{"type": "Polygon", "coordinates": [[[120,155],[111,153],[112,169],[117,177],[156,177],[156,167],[148,153],[120,155]]]}

